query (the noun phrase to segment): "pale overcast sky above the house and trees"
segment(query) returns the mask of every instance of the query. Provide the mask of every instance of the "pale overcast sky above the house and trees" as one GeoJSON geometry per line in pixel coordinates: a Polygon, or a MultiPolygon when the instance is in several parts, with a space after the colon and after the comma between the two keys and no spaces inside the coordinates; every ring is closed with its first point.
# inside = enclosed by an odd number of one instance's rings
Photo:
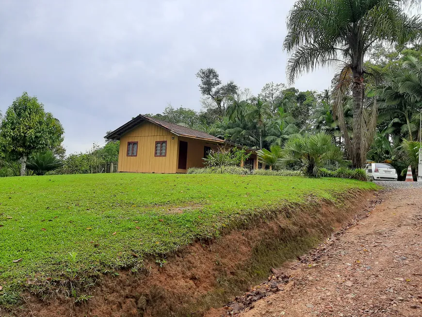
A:
{"type": "MultiPolygon", "coordinates": [[[[104,143],[167,103],[200,110],[195,73],[213,67],[252,93],[286,83],[293,0],[0,0],[0,110],[27,91],[65,128],[67,154],[104,143]]],[[[323,90],[332,70],[304,75],[323,90]]]]}

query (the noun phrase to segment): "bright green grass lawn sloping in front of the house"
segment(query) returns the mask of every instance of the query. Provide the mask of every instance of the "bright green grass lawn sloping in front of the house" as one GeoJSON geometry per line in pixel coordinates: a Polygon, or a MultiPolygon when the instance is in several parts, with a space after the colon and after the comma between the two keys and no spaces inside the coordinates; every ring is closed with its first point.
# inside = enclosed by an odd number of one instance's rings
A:
{"type": "Polygon", "coordinates": [[[352,188],[376,185],[215,174],[0,178],[0,305],[15,303],[27,278],[58,277],[75,263],[101,272],[142,265],[263,210],[352,188]]]}

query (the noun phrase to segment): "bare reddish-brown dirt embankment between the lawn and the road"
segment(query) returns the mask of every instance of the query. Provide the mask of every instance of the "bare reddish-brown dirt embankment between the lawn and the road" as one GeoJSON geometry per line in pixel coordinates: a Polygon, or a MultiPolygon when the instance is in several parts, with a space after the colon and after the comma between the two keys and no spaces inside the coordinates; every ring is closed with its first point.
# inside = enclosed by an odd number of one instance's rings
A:
{"type": "Polygon", "coordinates": [[[204,316],[211,307],[222,306],[262,281],[271,267],[294,259],[326,239],[333,228],[340,228],[365,210],[374,194],[354,192],[342,199],[341,207],[309,200],[278,213],[269,211],[266,221],[244,224],[219,239],[197,241],[169,255],[163,267],[151,259],[145,272],[132,274],[129,270],[119,271],[114,277],[104,276],[92,289],[92,298],[79,305],[71,299],[41,300],[27,295],[24,307],[13,315],[204,316]]]}

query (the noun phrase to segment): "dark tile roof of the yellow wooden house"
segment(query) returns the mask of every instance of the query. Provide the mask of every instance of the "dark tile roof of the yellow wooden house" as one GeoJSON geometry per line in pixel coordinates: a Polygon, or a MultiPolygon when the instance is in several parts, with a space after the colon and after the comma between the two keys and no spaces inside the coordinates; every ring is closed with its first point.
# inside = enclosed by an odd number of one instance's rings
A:
{"type": "Polygon", "coordinates": [[[114,130],[112,133],[107,134],[105,136],[105,138],[106,139],[119,140],[120,137],[123,134],[129,132],[130,130],[132,130],[133,128],[135,128],[136,126],[138,126],[139,124],[141,124],[144,121],[154,123],[154,124],[162,127],[163,129],[168,130],[171,133],[174,133],[174,134],[179,135],[179,136],[185,136],[185,137],[190,137],[190,138],[210,140],[210,141],[215,141],[215,142],[219,142],[219,143],[224,143],[224,141],[222,139],[219,139],[218,137],[215,137],[211,134],[201,132],[201,131],[196,131],[194,129],[183,127],[179,124],[166,122],[166,121],[163,121],[163,120],[147,117],[147,116],[144,116],[144,115],[139,115],[138,117],[133,118],[129,122],[125,123],[121,127],[114,130]]]}

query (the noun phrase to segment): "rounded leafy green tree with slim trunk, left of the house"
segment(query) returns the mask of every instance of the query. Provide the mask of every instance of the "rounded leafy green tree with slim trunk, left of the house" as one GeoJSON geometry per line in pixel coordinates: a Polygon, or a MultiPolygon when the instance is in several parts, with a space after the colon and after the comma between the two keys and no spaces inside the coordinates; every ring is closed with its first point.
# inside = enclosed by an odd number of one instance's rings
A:
{"type": "Polygon", "coordinates": [[[36,97],[24,92],[13,101],[1,122],[0,145],[9,158],[20,160],[23,176],[28,157],[60,145],[63,133],[59,120],[46,113],[36,97]]]}

